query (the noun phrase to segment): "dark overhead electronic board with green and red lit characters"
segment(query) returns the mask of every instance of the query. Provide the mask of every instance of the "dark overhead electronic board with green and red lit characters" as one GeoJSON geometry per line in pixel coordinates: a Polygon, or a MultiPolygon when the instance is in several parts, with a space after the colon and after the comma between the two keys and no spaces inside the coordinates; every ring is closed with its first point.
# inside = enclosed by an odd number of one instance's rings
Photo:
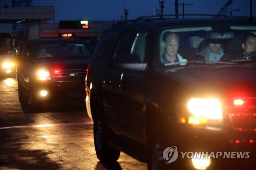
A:
{"type": "Polygon", "coordinates": [[[88,20],[60,20],[59,29],[89,29],[88,20]]]}

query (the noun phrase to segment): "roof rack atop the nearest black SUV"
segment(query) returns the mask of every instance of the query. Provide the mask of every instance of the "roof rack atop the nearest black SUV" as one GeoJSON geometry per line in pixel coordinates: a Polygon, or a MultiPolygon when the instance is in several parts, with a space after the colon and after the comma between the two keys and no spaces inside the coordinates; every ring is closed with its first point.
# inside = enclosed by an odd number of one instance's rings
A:
{"type": "Polygon", "coordinates": [[[230,17],[228,15],[216,15],[216,14],[166,14],[166,15],[149,15],[149,16],[140,16],[137,17],[136,19],[131,19],[131,20],[121,20],[117,21],[114,25],[122,25],[125,23],[132,23],[132,22],[137,22],[137,21],[146,21],[146,20],[151,20],[151,19],[176,19],[176,16],[212,16],[212,17],[230,17]],[[170,16],[173,16],[173,18],[169,18],[170,16]]]}

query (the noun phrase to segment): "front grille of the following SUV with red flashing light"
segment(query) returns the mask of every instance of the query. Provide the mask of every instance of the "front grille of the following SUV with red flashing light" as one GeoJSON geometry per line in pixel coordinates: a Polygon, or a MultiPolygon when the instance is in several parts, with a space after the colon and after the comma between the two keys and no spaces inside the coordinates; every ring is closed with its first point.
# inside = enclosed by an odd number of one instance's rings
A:
{"type": "Polygon", "coordinates": [[[52,70],[55,82],[82,82],[86,77],[86,69],[52,70]]]}

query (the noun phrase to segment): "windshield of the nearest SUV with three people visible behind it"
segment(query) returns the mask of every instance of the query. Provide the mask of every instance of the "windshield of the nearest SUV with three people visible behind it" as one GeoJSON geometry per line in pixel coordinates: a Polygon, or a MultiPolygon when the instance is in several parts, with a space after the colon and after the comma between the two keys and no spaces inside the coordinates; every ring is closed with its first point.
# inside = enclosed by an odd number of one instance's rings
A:
{"type": "Polygon", "coordinates": [[[255,57],[255,26],[165,29],[159,38],[159,56],[164,66],[239,62],[255,57]]]}

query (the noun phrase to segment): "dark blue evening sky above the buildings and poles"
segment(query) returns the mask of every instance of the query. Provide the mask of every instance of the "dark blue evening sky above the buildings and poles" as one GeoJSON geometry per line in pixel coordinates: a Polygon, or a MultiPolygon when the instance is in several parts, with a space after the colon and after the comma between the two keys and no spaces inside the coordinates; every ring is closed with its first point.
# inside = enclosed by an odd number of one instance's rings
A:
{"type": "MultiPolygon", "coordinates": [[[[228,0],[179,0],[179,4],[194,4],[185,6],[185,13],[217,14],[228,0]]],[[[175,14],[175,0],[164,1],[164,14],[175,14]]],[[[256,0],[252,0],[256,7],[256,0]]],[[[8,4],[11,0],[1,0],[0,5],[8,4]]],[[[120,20],[124,17],[125,9],[128,11],[128,19],[139,16],[154,15],[154,9],[159,10],[159,0],[34,0],[33,6],[55,6],[55,22],[59,20],[120,20]]],[[[233,12],[233,16],[249,16],[250,0],[233,0],[228,11],[240,9],[233,12]]],[[[256,9],[253,16],[256,16],[256,9]]],[[[179,6],[179,14],[182,14],[182,6],[179,6]]],[[[229,12],[227,13],[229,14],[229,12]]],[[[50,20],[49,22],[54,22],[50,20]]]]}

